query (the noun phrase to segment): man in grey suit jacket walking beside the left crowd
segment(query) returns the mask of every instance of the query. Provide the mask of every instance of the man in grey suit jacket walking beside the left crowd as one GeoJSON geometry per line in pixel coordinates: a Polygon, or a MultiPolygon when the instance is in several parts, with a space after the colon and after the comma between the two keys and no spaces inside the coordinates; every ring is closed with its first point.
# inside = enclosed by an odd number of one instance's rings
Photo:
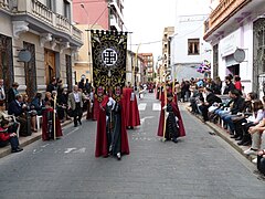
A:
{"type": "Polygon", "coordinates": [[[68,95],[68,109],[73,111],[74,115],[74,127],[77,126],[77,122],[82,125],[81,118],[83,115],[83,101],[86,100],[86,96],[78,91],[78,86],[74,85],[73,92],[68,95]]]}

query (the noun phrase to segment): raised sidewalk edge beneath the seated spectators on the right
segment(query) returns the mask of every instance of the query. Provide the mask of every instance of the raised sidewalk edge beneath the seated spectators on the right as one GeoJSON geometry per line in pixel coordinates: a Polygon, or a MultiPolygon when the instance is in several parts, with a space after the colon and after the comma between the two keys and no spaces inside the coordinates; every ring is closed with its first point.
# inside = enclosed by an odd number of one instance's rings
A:
{"type": "MultiPolygon", "coordinates": [[[[202,122],[201,115],[195,115],[190,112],[189,104],[186,104],[184,107],[191,115],[193,115],[194,117],[197,117],[198,119],[200,119],[202,122]]],[[[237,142],[235,139],[231,138],[230,137],[231,135],[224,128],[219,126],[218,124],[213,124],[211,122],[205,122],[204,124],[208,125],[211,129],[213,129],[215,135],[220,136],[226,143],[229,143],[234,149],[236,149],[240,154],[242,154],[248,160],[252,161],[253,159],[256,158],[255,155],[245,155],[244,154],[244,150],[248,149],[251,146],[239,146],[237,142]]]]}

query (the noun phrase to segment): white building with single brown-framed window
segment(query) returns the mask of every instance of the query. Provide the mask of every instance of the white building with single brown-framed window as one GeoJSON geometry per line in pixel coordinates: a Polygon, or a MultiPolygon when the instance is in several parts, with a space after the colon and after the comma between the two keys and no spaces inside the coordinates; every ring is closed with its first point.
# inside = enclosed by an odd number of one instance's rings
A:
{"type": "Polygon", "coordinates": [[[178,15],[170,38],[171,75],[178,81],[204,77],[197,67],[211,60],[211,45],[203,40],[203,23],[208,14],[178,15]]]}

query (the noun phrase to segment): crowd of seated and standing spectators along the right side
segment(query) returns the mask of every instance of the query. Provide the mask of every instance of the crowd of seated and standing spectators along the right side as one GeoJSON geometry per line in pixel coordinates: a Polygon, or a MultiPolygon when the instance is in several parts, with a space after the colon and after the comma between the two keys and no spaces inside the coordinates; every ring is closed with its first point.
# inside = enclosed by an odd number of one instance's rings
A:
{"type": "Polygon", "coordinates": [[[220,78],[183,81],[176,91],[181,93],[180,101],[189,100],[191,113],[201,115],[203,123],[221,125],[239,146],[247,146],[244,154],[256,156],[252,161],[264,178],[265,97],[245,94],[241,77],[232,75],[224,83],[220,78]]]}

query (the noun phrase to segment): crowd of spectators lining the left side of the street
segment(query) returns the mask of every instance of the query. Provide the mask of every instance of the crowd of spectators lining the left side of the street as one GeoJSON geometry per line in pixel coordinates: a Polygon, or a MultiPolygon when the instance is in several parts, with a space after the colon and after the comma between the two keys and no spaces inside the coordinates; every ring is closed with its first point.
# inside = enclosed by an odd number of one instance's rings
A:
{"type": "MultiPolygon", "coordinates": [[[[85,82],[82,78],[76,86],[80,92],[91,96],[93,88],[88,80],[85,82]]],[[[56,109],[56,117],[61,123],[71,119],[67,114],[71,92],[63,86],[62,80],[53,77],[45,92],[35,93],[35,96],[30,100],[25,93],[20,93],[17,82],[7,90],[3,80],[0,80],[0,147],[10,143],[13,153],[21,151],[19,137],[31,136],[38,132],[38,123],[42,122],[47,105],[56,109]]],[[[91,100],[91,97],[87,98],[91,100]]],[[[84,109],[87,108],[87,103],[92,101],[84,101],[84,109]]]]}

